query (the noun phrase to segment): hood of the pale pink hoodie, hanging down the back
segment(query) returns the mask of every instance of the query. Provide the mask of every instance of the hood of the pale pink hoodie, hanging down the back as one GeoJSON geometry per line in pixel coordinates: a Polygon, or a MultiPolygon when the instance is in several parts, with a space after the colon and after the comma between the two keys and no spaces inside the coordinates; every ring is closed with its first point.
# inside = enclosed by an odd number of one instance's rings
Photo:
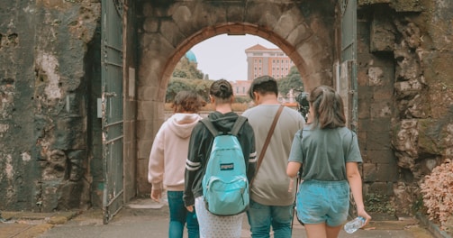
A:
{"type": "Polygon", "coordinates": [[[199,114],[173,114],[168,118],[168,128],[180,138],[187,138],[192,133],[195,124],[201,120],[199,114]]]}

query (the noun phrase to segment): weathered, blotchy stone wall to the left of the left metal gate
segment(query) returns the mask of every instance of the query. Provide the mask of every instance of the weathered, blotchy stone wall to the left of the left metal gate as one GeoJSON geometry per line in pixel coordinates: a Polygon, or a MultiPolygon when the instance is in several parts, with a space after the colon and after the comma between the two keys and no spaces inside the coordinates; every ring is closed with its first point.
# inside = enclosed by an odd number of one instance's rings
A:
{"type": "Polygon", "coordinates": [[[100,2],[0,5],[0,209],[86,207],[100,2]]]}

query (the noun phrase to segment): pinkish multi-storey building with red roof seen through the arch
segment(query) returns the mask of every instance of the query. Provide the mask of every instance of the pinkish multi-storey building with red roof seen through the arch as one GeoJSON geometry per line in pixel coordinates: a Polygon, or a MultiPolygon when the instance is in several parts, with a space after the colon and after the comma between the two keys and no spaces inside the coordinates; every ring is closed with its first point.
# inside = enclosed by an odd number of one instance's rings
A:
{"type": "Polygon", "coordinates": [[[289,74],[291,67],[294,66],[291,60],[283,50],[267,49],[266,47],[256,44],[245,50],[247,54],[247,79],[253,80],[263,75],[269,75],[273,78],[284,78],[289,74]]]}

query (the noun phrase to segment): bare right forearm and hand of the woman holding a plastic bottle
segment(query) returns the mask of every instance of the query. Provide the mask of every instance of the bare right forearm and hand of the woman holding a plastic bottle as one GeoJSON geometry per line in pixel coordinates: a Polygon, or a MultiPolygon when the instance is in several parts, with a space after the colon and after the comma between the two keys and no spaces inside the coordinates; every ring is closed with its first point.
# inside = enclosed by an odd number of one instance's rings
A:
{"type": "Polygon", "coordinates": [[[349,187],[354,197],[354,201],[357,205],[357,213],[359,216],[367,219],[366,224],[371,220],[371,216],[365,211],[365,205],[363,203],[362,196],[362,178],[360,178],[360,173],[358,172],[358,163],[357,162],[347,162],[346,163],[346,174],[348,176],[349,187]]]}

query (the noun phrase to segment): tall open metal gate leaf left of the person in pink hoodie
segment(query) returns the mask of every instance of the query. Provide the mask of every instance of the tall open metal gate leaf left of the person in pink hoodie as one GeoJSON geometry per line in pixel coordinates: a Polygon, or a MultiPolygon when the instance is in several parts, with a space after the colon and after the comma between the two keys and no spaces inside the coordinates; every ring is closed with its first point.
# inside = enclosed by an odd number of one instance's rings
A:
{"type": "Polygon", "coordinates": [[[122,208],[122,10],[121,0],[102,0],[102,124],[104,224],[122,208]]]}

